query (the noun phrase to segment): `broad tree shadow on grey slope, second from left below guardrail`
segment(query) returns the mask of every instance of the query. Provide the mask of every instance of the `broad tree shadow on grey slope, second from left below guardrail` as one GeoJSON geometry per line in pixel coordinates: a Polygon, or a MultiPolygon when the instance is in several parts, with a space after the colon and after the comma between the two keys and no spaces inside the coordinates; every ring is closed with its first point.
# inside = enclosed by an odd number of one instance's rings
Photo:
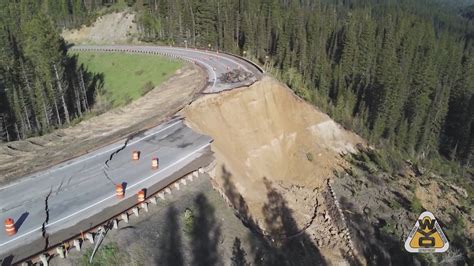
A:
{"type": "Polygon", "coordinates": [[[221,236],[220,224],[212,207],[204,194],[199,194],[194,200],[196,214],[191,230],[191,265],[221,265],[218,252],[221,236]]]}

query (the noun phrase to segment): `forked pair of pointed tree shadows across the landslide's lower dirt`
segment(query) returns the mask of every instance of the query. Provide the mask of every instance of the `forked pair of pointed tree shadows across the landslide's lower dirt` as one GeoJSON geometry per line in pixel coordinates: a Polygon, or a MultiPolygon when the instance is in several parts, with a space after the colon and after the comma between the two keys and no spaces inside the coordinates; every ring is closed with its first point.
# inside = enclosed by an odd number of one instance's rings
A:
{"type": "Polygon", "coordinates": [[[263,232],[252,219],[245,199],[237,191],[225,166],[222,173],[225,195],[235,208],[237,217],[252,232],[251,248],[255,265],[326,265],[310,236],[298,229],[287,201],[271,181],[263,179],[267,189],[267,203],[262,208],[266,225],[263,232]]]}

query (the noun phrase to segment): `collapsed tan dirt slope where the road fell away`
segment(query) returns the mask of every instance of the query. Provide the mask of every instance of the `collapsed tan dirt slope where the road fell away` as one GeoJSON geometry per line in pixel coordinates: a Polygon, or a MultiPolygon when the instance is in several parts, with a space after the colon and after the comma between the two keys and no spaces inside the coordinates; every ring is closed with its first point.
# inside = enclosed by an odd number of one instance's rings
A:
{"type": "Polygon", "coordinates": [[[269,77],[249,88],[200,98],[183,112],[192,128],[214,138],[215,182],[227,196],[241,195],[233,203],[248,211],[244,216],[270,235],[291,237],[309,226],[306,233],[323,256],[344,255],[334,254],[344,248],[337,243],[340,228],[328,223],[331,207],[323,195],[334,170],[344,164],[340,153],[354,151],[363,142],[360,137],[269,77]],[[278,204],[292,217],[270,215],[278,204]],[[288,230],[289,218],[294,228],[288,230]],[[274,230],[278,223],[282,230],[274,230]]]}

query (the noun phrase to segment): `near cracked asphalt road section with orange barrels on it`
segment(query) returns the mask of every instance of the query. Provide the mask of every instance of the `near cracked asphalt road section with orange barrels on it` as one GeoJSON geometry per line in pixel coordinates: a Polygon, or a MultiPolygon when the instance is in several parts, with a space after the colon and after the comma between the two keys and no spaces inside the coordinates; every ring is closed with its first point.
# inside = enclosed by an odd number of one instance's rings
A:
{"type": "Polygon", "coordinates": [[[209,149],[211,138],[172,120],[124,141],[28,176],[0,189],[3,219],[15,219],[18,233],[0,233],[0,254],[75,225],[81,219],[117,204],[115,185],[126,183],[126,197],[186,166],[209,149]],[[140,160],[132,160],[139,150],[140,160]],[[151,167],[152,157],[160,167],[151,167]],[[107,162],[107,163],[106,163],[107,162]],[[47,221],[47,222],[46,222],[47,221]]]}

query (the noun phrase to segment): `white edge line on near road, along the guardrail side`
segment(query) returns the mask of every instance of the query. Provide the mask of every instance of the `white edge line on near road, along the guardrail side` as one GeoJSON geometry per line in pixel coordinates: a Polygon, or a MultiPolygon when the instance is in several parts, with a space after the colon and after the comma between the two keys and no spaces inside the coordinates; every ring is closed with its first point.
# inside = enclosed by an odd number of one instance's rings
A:
{"type": "MultiPolygon", "coordinates": [[[[136,182],[136,183],[133,184],[133,185],[127,186],[127,189],[136,187],[136,186],[140,185],[141,183],[143,183],[143,182],[145,182],[145,181],[148,181],[149,179],[153,178],[154,176],[156,176],[156,175],[160,174],[161,172],[163,172],[163,171],[169,169],[170,167],[175,166],[176,164],[178,164],[178,163],[180,163],[180,162],[186,160],[186,159],[187,159],[188,157],[190,157],[191,155],[194,155],[195,153],[201,151],[202,149],[208,147],[209,145],[211,145],[211,144],[210,144],[210,143],[206,143],[205,145],[203,145],[203,146],[197,148],[197,149],[194,150],[193,152],[191,152],[191,153],[189,153],[188,155],[182,157],[181,159],[175,161],[174,163],[172,163],[172,164],[166,166],[166,167],[163,168],[163,169],[158,170],[158,172],[153,173],[152,175],[141,179],[140,181],[136,182]]],[[[133,193],[132,195],[135,195],[135,194],[133,193]]],[[[62,222],[62,221],[64,221],[64,220],[67,220],[67,219],[69,219],[69,218],[71,218],[71,217],[73,217],[73,216],[75,216],[75,215],[77,215],[77,214],[79,214],[79,213],[81,213],[81,212],[84,212],[84,211],[86,211],[86,210],[88,210],[88,209],[90,209],[90,208],[92,208],[92,207],[94,207],[94,206],[97,206],[97,205],[101,204],[102,202],[105,202],[105,201],[107,201],[107,200],[109,200],[109,199],[111,199],[111,198],[115,198],[115,197],[116,197],[116,196],[115,196],[115,193],[113,193],[111,196],[108,196],[108,197],[106,197],[106,198],[104,198],[104,199],[102,199],[102,200],[100,200],[100,201],[98,201],[98,202],[96,202],[96,203],[93,203],[93,204],[91,204],[91,205],[89,205],[89,206],[87,206],[87,207],[85,207],[85,208],[83,208],[83,209],[81,209],[81,210],[78,210],[78,211],[76,211],[76,212],[74,212],[74,213],[72,213],[72,214],[70,214],[70,215],[68,215],[68,216],[66,216],[66,217],[63,217],[63,218],[61,218],[61,219],[59,219],[59,220],[56,220],[56,221],[51,222],[51,223],[48,223],[47,225],[45,225],[45,228],[48,228],[48,227],[50,227],[50,226],[52,226],[52,225],[55,225],[55,224],[57,224],[57,223],[59,223],[59,222],[62,222]]],[[[95,214],[93,214],[93,215],[95,215],[95,214]]],[[[88,218],[90,218],[90,216],[89,216],[88,218]]],[[[9,244],[9,243],[12,243],[13,241],[16,241],[16,240],[18,240],[18,239],[20,239],[20,238],[23,238],[23,237],[25,237],[25,236],[28,236],[28,235],[30,235],[30,234],[32,234],[32,233],[34,233],[34,232],[36,232],[36,231],[39,231],[39,230],[41,230],[41,229],[42,229],[42,227],[35,228],[35,229],[33,229],[33,230],[31,230],[31,231],[29,231],[29,232],[27,232],[27,233],[24,233],[24,234],[22,234],[22,235],[20,235],[20,236],[17,236],[17,237],[15,237],[15,238],[11,239],[11,240],[8,240],[7,242],[4,242],[4,243],[0,244],[0,247],[3,247],[3,246],[5,246],[5,245],[7,245],[7,244],[9,244]]]]}

